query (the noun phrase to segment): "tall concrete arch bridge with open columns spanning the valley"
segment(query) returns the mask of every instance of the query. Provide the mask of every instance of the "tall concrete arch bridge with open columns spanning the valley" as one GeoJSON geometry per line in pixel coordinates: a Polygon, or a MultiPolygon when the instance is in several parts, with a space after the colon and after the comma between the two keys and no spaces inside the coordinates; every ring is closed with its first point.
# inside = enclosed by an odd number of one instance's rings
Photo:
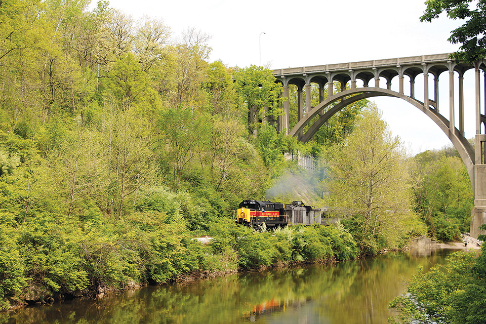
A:
{"type": "MultiPolygon", "coordinates": [[[[395,97],[421,110],[448,136],[466,166],[474,192],[471,236],[477,237],[479,226],[486,223],[486,60],[466,64],[449,59],[449,54],[326,64],[317,66],[276,69],[273,75],[281,82],[284,96],[289,97],[289,86],[297,86],[298,123],[289,130],[289,101],[284,102],[284,115],[279,119],[279,131],[309,141],[317,130],[336,112],[358,100],[372,97],[395,97]],[[475,144],[464,137],[464,73],[474,69],[475,75],[475,144]],[[483,90],[481,73],[483,72],[483,90]],[[449,83],[449,102],[439,105],[439,76],[446,73],[449,83]],[[407,81],[406,81],[407,76],[407,81]],[[457,81],[455,80],[457,76],[457,81]],[[423,95],[416,96],[416,79],[423,78],[423,95]],[[429,77],[433,86],[429,89],[429,77]],[[386,84],[380,79],[386,80],[386,84]],[[391,90],[392,80],[398,79],[398,91],[391,90]],[[311,107],[311,84],[319,88],[319,104],[311,107]],[[350,83],[350,87],[346,87],[350,83]],[[357,86],[362,84],[362,86],[357,86]],[[372,83],[370,85],[370,83],[372,83]],[[338,92],[335,92],[335,85],[338,92]],[[404,88],[409,88],[407,95],[404,88]],[[327,88],[328,98],[324,98],[327,88]],[[347,89],[348,88],[348,89],[347,89]],[[305,103],[303,93],[305,92],[305,103]],[[459,98],[455,98],[458,94],[459,98]],[[481,107],[481,96],[484,105],[481,107]],[[458,99],[458,100],[456,100],[458,99]],[[458,102],[456,106],[455,103],[458,102]],[[443,108],[443,106],[446,106],[443,108]],[[439,109],[440,108],[440,109],[439,109]],[[447,109],[449,119],[440,111],[447,109]],[[305,111],[305,114],[304,114],[305,111]],[[456,118],[458,123],[456,123],[456,118]],[[313,123],[312,125],[310,125],[313,123]],[[304,127],[310,125],[303,133],[304,127]],[[459,129],[456,128],[459,126],[459,129]]],[[[396,88],[396,86],[394,87],[396,88]]],[[[422,92],[421,92],[422,93],[422,92]]],[[[467,120],[467,123],[473,123],[467,120]]]]}

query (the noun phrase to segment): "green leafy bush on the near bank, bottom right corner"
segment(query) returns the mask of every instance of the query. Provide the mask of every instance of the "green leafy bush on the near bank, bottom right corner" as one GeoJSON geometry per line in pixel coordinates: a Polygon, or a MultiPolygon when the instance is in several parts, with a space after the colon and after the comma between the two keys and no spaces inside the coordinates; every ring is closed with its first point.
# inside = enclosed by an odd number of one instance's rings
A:
{"type": "Polygon", "coordinates": [[[408,283],[407,294],[396,297],[390,307],[401,314],[395,323],[484,323],[484,246],[474,258],[457,252],[443,266],[418,272],[408,283]]]}

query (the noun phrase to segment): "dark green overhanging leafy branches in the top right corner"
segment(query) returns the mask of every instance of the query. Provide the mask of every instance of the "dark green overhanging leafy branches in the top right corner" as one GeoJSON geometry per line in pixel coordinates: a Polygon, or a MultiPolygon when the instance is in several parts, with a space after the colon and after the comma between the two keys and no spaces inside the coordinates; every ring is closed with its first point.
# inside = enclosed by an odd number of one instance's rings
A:
{"type": "Polygon", "coordinates": [[[455,59],[473,63],[486,57],[486,1],[427,0],[425,4],[427,8],[420,21],[431,22],[443,12],[451,19],[465,21],[451,31],[448,39],[452,44],[461,44],[462,52],[454,53],[455,59]],[[474,3],[476,9],[472,9],[474,3]]]}

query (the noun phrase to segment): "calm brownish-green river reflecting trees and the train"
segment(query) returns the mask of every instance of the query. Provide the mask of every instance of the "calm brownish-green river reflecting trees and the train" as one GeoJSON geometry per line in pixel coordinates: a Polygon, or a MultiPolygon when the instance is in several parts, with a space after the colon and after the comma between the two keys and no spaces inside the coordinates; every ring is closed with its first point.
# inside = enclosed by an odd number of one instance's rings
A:
{"type": "Polygon", "coordinates": [[[387,322],[388,303],[419,265],[444,262],[388,253],[373,259],[245,272],[190,284],[127,291],[101,300],[74,299],[0,313],[8,323],[329,323],[387,322]]]}

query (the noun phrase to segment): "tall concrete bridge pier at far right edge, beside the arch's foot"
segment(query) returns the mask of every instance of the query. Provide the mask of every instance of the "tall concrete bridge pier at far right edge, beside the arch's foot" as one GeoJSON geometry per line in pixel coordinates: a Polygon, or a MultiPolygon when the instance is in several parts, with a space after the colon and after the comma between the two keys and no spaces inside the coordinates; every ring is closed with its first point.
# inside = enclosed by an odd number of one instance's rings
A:
{"type": "Polygon", "coordinates": [[[476,136],[474,139],[474,209],[472,211],[470,234],[477,238],[479,234],[486,234],[479,230],[479,226],[486,223],[486,165],[484,164],[484,148],[486,135],[481,134],[481,93],[479,80],[479,66],[476,62],[476,136]]]}

